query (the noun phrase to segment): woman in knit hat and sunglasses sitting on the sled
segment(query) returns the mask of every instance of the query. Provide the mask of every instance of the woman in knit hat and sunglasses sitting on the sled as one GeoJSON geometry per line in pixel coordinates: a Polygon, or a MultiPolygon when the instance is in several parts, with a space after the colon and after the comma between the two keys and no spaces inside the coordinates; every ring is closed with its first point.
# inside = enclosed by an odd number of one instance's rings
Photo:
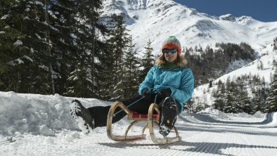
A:
{"type": "MultiPolygon", "coordinates": [[[[155,65],[140,84],[140,96],[121,101],[129,106],[141,99],[129,107],[130,110],[141,114],[148,114],[150,104],[157,103],[161,110],[159,124],[160,134],[163,136],[169,134],[176,122],[176,116],[183,110],[183,103],[191,98],[193,93],[193,73],[185,67],[186,64],[186,59],[181,56],[179,40],[170,36],[162,44],[162,55],[157,58],[155,65]]],[[[70,105],[72,117],[85,125],[83,130],[88,130],[89,126],[91,129],[106,126],[109,110],[110,106],[84,108],[79,100],[73,100],[70,105]]],[[[119,121],[125,115],[126,112],[121,111],[112,118],[112,123],[119,121]]]]}

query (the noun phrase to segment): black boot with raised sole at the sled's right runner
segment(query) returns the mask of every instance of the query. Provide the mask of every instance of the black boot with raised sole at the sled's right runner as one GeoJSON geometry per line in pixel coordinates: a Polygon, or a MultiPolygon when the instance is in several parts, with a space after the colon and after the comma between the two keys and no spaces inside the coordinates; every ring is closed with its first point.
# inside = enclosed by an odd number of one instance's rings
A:
{"type": "Polygon", "coordinates": [[[178,114],[178,104],[174,98],[165,98],[165,101],[161,103],[162,115],[160,115],[160,134],[167,136],[176,122],[178,114]]]}

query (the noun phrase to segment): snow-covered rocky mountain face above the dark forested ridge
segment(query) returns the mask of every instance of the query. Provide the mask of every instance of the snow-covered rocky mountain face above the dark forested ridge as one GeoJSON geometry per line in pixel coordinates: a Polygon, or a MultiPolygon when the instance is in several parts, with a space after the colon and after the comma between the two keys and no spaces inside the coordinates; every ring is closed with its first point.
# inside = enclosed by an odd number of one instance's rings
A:
{"type": "Polygon", "coordinates": [[[139,51],[148,39],[153,41],[154,54],[170,35],[183,47],[214,47],[217,42],[250,44],[261,51],[277,37],[277,22],[260,22],[249,16],[219,17],[200,13],[172,0],[105,0],[102,16],[125,15],[125,25],[134,37],[139,51]]]}

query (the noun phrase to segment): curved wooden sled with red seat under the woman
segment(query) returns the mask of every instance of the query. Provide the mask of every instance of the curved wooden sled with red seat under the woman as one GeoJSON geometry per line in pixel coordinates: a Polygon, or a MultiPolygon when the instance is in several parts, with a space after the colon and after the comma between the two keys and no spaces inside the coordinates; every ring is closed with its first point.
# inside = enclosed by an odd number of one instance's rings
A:
{"type": "Polygon", "coordinates": [[[144,134],[144,131],[146,130],[146,128],[148,128],[150,138],[153,141],[153,143],[166,144],[166,143],[174,143],[176,141],[181,141],[181,137],[179,136],[178,130],[176,129],[175,126],[173,126],[173,129],[176,134],[175,137],[164,136],[164,138],[157,138],[155,136],[153,124],[156,124],[157,126],[160,127],[160,125],[158,124],[159,117],[160,117],[160,110],[159,110],[159,106],[156,103],[152,103],[150,105],[149,110],[148,110],[148,115],[143,115],[143,114],[139,114],[137,112],[133,112],[133,111],[129,110],[129,108],[127,108],[126,105],[117,101],[112,104],[110,111],[108,112],[107,135],[113,141],[135,141],[138,139],[146,138],[146,134],[144,134]],[[127,127],[127,130],[125,131],[125,134],[123,136],[117,136],[117,135],[112,134],[112,117],[115,113],[115,109],[118,107],[120,107],[122,110],[124,110],[124,112],[127,113],[127,119],[134,120],[134,122],[131,122],[131,124],[129,124],[129,126],[127,127]],[[154,110],[156,110],[157,114],[153,114],[154,110]],[[127,134],[129,132],[129,130],[131,129],[131,127],[134,126],[134,124],[137,124],[142,121],[146,121],[147,123],[143,126],[141,135],[128,136],[127,134]]]}

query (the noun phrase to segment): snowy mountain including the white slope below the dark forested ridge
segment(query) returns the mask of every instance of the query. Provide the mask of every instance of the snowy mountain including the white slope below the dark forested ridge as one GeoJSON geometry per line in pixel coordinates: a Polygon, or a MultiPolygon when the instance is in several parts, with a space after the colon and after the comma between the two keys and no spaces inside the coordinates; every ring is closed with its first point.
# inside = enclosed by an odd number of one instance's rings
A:
{"type": "MultiPolygon", "coordinates": [[[[236,60],[231,63],[224,74],[214,79],[213,87],[203,84],[195,88],[193,101],[212,105],[212,90],[217,89],[217,82],[226,82],[230,77],[243,74],[264,77],[267,85],[276,70],[273,63],[277,60],[277,51],[273,49],[273,39],[277,37],[277,22],[261,22],[249,16],[235,17],[231,14],[219,17],[200,13],[172,0],[105,0],[103,17],[112,14],[124,15],[125,26],[134,37],[138,51],[143,51],[148,39],[153,41],[153,54],[160,54],[160,47],[170,35],[181,41],[183,48],[209,45],[214,48],[216,43],[245,42],[257,53],[257,60],[245,62],[236,60]],[[264,65],[262,70],[259,65],[264,65]]],[[[277,45],[275,45],[277,46],[277,45]]],[[[251,94],[251,93],[250,93],[251,94]]]]}

